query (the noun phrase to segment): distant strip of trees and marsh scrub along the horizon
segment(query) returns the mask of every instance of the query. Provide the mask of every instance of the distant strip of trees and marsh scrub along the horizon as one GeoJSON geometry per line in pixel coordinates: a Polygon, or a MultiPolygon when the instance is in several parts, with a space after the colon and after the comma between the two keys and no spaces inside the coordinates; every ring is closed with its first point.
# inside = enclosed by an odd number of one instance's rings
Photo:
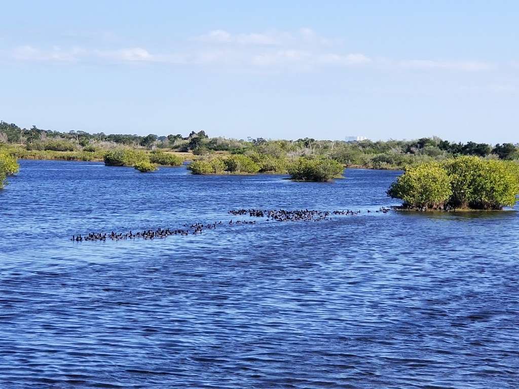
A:
{"type": "MultiPolygon", "coordinates": [[[[345,166],[367,169],[404,169],[407,166],[441,162],[459,156],[519,161],[518,145],[450,143],[438,137],[387,142],[319,141],[312,138],[296,141],[263,138],[237,140],[225,137],[210,138],[204,131],[192,131],[185,137],[181,134],[140,136],[106,135],[102,132],[89,134],[84,131],[57,132],[42,130],[36,126],[22,129],[16,124],[4,121],[0,121],[0,143],[17,145],[20,149],[31,151],[19,158],[37,159],[103,160],[104,152],[118,148],[131,148],[145,153],[154,150],[152,153],[158,152],[158,155],[149,156],[153,163],[173,166],[178,164],[173,160],[175,157],[164,157],[173,155],[171,152],[189,153],[185,154],[184,158],[190,160],[208,159],[214,154],[218,157],[222,157],[222,154],[244,155],[260,165],[260,173],[286,173],[289,162],[298,157],[333,159],[345,166]],[[59,154],[60,152],[70,154],[59,154]],[[85,154],[86,152],[90,154],[85,154]]],[[[240,165],[240,161],[234,162],[240,165]]],[[[243,173],[254,170],[253,164],[245,164],[248,166],[244,168],[243,173]]]]}

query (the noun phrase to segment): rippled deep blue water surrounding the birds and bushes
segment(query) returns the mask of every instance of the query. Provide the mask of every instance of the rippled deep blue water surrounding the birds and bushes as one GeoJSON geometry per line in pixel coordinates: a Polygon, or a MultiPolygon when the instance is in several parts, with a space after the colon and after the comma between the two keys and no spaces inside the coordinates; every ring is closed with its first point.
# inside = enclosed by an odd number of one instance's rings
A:
{"type": "Polygon", "coordinates": [[[517,387],[518,213],[367,214],[398,173],[346,175],[21,161],[0,191],[0,387],[517,387]],[[363,212],[69,240],[242,207],[363,212]]]}

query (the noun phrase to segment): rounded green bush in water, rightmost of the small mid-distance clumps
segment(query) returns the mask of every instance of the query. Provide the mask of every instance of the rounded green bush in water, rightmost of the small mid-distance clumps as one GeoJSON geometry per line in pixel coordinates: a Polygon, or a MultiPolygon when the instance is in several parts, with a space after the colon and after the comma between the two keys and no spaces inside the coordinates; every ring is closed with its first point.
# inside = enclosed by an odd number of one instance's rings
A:
{"type": "Polygon", "coordinates": [[[328,182],[342,177],[344,167],[332,159],[298,158],[288,166],[290,178],[302,181],[328,182]]]}

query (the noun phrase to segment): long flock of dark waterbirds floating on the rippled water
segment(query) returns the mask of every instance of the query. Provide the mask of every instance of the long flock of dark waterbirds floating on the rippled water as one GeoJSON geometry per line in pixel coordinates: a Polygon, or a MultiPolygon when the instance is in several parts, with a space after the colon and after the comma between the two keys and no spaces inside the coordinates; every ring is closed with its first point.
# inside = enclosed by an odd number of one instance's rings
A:
{"type": "MultiPolygon", "coordinates": [[[[387,207],[381,207],[378,211],[381,213],[388,213],[390,211],[387,207]]],[[[372,211],[368,210],[367,213],[371,213],[372,211]]],[[[316,210],[256,210],[256,209],[241,209],[241,210],[233,210],[229,211],[229,214],[233,216],[243,216],[248,215],[250,217],[266,217],[267,221],[275,220],[275,221],[323,221],[330,220],[331,215],[358,215],[361,211],[316,211],[316,210]]],[[[72,235],[71,241],[73,242],[83,242],[83,241],[101,241],[104,242],[106,240],[119,241],[119,240],[127,240],[127,239],[161,239],[167,238],[171,235],[197,235],[201,234],[204,229],[212,230],[216,229],[217,226],[222,224],[226,224],[229,226],[232,225],[248,225],[248,224],[256,224],[255,220],[233,220],[230,219],[229,222],[215,221],[214,223],[203,224],[203,223],[194,223],[192,225],[184,225],[185,229],[163,229],[158,228],[156,230],[144,230],[133,233],[132,231],[128,233],[116,233],[112,231],[111,233],[100,233],[100,232],[91,232],[85,236],[72,235]]]]}

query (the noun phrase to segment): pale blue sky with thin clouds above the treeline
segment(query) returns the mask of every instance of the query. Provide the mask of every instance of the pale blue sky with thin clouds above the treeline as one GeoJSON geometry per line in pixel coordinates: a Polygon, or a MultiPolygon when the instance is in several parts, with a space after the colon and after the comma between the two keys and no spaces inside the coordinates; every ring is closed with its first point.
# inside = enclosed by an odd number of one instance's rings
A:
{"type": "Polygon", "coordinates": [[[514,1],[5,2],[0,119],[519,142],[518,13],[514,1]]]}

